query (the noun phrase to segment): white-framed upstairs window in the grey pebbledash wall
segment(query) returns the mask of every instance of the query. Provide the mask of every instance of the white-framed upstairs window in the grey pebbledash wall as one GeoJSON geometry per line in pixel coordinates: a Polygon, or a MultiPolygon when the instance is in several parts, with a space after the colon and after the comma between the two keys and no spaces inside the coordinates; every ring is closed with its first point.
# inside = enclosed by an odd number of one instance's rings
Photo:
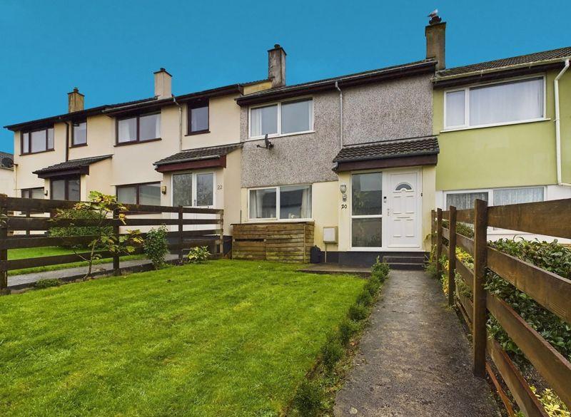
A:
{"type": "Polygon", "coordinates": [[[250,108],[251,139],[313,132],[313,98],[250,108]]]}

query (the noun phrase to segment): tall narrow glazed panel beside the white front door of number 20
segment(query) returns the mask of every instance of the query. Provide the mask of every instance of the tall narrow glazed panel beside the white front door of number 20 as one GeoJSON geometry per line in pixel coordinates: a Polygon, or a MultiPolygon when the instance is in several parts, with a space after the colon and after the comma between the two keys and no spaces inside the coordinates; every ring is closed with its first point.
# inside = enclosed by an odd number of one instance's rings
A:
{"type": "Polygon", "coordinates": [[[383,176],[351,175],[351,246],[383,246],[383,176]]]}

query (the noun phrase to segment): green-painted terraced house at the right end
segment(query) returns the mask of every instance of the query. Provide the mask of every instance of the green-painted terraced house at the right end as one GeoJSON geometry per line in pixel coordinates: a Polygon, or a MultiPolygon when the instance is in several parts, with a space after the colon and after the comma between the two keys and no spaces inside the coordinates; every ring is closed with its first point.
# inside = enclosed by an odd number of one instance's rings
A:
{"type": "MultiPolygon", "coordinates": [[[[571,197],[570,58],[567,47],[438,68],[438,207],[472,208],[475,198],[506,205],[571,197]]],[[[488,235],[515,232],[492,228],[488,235]]]]}

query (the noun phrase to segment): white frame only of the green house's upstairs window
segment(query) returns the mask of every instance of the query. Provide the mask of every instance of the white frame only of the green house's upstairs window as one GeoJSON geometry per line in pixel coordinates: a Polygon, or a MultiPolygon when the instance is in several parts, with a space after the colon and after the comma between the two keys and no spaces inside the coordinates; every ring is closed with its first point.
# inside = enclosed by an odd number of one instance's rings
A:
{"type": "Polygon", "coordinates": [[[540,122],[545,120],[550,120],[547,118],[547,77],[545,73],[536,74],[534,76],[521,76],[516,78],[508,78],[505,80],[500,81],[491,81],[489,83],[472,83],[468,84],[467,86],[463,87],[453,87],[447,88],[444,90],[443,94],[443,129],[440,130],[441,132],[451,132],[454,130],[468,130],[468,129],[478,129],[478,128],[491,128],[495,126],[505,126],[505,125],[519,125],[520,123],[533,123],[533,122],[540,122]],[[498,122],[498,123],[487,123],[483,125],[470,125],[470,89],[472,88],[480,88],[480,87],[487,87],[487,86],[494,86],[497,84],[507,84],[507,83],[517,83],[518,81],[531,81],[534,79],[542,79],[543,81],[543,108],[542,108],[542,117],[540,118],[532,118],[532,119],[525,119],[525,120],[515,120],[510,122],[498,122]],[[448,93],[454,93],[456,91],[464,91],[464,124],[463,125],[455,125],[448,127],[447,123],[447,96],[448,93]]]}

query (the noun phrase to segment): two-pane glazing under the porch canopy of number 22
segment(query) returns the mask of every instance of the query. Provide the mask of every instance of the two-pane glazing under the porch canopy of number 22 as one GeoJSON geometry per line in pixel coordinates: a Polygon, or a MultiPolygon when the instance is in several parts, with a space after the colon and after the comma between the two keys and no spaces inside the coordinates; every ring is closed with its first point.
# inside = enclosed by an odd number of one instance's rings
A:
{"type": "Polygon", "coordinates": [[[181,173],[173,175],[173,205],[214,205],[214,173],[181,173]]]}

